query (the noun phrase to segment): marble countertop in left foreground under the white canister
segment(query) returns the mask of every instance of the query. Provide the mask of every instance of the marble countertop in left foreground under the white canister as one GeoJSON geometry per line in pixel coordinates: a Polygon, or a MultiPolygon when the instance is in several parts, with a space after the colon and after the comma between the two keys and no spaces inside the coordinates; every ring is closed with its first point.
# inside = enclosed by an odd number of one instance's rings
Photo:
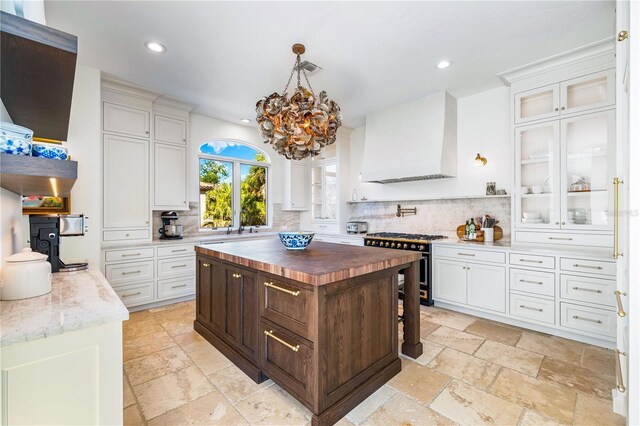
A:
{"type": "Polygon", "coordinates": [[[53,274],[51,293],[0,302],[0,347],[129,318],[96,270],[53,274]]]}

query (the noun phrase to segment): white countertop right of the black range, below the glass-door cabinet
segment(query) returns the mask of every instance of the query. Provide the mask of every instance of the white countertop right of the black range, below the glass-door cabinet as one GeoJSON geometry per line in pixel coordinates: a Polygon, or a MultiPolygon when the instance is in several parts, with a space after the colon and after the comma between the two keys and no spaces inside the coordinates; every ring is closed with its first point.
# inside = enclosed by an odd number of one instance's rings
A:
{"type": "Polygon", "coordinates": [[[494,241],[491,243],[486,242],[477,242],[477,241],[466,241],[461,240],[459,238],[447,238],[444,240],[436,240],[431,243],[432,246],[451,246],[455,245],[457,247],[469,247],[479,250],[505,250],[505,251],[518,251],[518,252],[527,252],[527,253],[536,253],[536,254],[560,254],[560,255],[572,255],[572,256],[580,256],[583,257],[593,257],[598,260],[613,260],[612,250],[611,249],[602,249],[598,247],[584,247],[584,246],[575,246],[575,247],[549,247],[542,244],[524,244],[524,243],[515,243],[508,239],[502,239],[499,241],[494,241]]]}

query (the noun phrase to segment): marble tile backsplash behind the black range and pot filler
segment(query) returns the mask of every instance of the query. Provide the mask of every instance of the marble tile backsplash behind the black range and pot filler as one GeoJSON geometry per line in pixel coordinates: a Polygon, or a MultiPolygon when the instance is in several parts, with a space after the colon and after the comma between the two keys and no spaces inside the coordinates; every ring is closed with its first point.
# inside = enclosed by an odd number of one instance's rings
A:
{"type": "Polygon", "coordinates": [[[498,219],[504,238],[511,234],[511,198],[462,198],[449,200],[382,201],[349,204],[349,220],[369,222],[369,232],[410,232],[453,237],[458,225],[470,217],[488,214],[498,219]],[[415,215],[397,217],[397,205],[415,207],[415,215]]]}

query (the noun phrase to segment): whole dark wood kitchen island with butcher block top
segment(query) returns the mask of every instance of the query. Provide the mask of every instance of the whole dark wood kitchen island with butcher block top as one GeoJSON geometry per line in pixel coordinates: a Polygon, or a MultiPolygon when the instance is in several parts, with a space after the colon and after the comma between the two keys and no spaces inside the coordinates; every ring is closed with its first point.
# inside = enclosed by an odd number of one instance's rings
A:
{"type": "Polygon", "coordinates": [[[398,273],[405,276],[402,353],[422,354],[419,253],[277,238],[196,246],[195,330],[255,382],[271,378],[337,422],[400,372],[398,273]]]}

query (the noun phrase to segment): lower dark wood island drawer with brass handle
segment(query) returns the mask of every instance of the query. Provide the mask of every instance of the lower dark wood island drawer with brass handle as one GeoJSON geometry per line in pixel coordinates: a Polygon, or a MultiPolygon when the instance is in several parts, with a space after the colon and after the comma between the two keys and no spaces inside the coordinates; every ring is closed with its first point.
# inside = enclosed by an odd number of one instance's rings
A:
{"type": "Polygon", "coordinates": [[[264,319],[260,322],[260,364],[265,375],[304,400],[313,394],[313,346],[264,319]]]}

